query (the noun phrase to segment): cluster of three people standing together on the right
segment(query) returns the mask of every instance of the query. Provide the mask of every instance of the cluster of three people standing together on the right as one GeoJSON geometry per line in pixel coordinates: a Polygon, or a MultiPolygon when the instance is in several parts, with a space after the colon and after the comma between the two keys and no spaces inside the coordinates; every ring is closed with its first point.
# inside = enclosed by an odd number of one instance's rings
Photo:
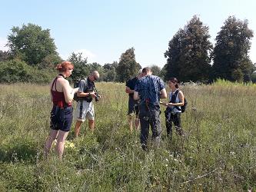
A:
{"type": "Polygon", "coordinates": [[[160,144],[161,121],[160,104],[166,107],[165,124],[167,135],[171,140],[172,123],[175,124],[179,135],[184,135],[181,128],[181,106],[185,104],[185,98],[182,91],[178,89],[178,79],[170,78],[168,80],[169,93],[168,102],[161,102],[161,98],[167,98],[165,83],[158,76],[152,75],[151,68],[143,68],[138,76],[127,81],[125,91],[129,94],[128,101],[128,122],[132,131],[131,117],[135,114],[135,127],[138,127],[136,121],[141,124],[141,147],[148,149],[148,131],[149,126],[152,131],[152,141],[156,146],[160,144]],[[132,110],[133,108],[133,110],[132,110]]]}

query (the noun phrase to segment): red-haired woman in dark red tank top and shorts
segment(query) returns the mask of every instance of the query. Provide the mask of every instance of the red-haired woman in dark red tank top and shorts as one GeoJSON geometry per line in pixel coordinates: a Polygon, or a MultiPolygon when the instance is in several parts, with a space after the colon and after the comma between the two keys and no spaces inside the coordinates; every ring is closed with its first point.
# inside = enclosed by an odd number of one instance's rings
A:
{"type": "Polygon", "coordinates": [[[71,101],[73,100],[75,92],[78,91],[78,88],[71,88],[68,80],[65,79],[71,75],[73,68],[74,65],[68,61],[63,61],[61,64],[57,65],[59,74],[52,80],[50,86],[53,107],[51,111],[51,131],[44,149],[45,156],[47,156],[51,150],[52,142],[57,139],[55,151],[58,157],[62,159],[65,139],[68,136],[73,119],[71,101]]]}

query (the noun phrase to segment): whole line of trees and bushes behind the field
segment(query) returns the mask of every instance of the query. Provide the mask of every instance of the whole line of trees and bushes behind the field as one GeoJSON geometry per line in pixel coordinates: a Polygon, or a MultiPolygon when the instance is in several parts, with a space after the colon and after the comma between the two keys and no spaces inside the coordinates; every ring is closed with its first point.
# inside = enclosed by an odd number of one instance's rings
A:
{"type": "MultiPolygon", "coordinates": [[[[177,77],[180,81],[205,83],[217,78],[255,82],[255,64],[248,55],[253,35],[247,20],[230,16],[218,32],[215,45],[212,45],[208,26],[194,15],[169,41],[168,50],[164,53],[167,59],[165,66],[152,65],[152,71],[165,80],[177,77]]],[[[48,83],[55,76],[55,65],[62,61],[50,30],[31,23],[21,28],[13,27],[7,46],[8,51],[0,50],[2,83],[48,83]]],[[[75,65],[71,81],[97,70],[101,81],[125,82],[141,68],[135,59],[135,48],[128,48],[121,53],[119,61],[105,65],[88,63],[81,53],[74,52],[68,61],[75,65]]]]}

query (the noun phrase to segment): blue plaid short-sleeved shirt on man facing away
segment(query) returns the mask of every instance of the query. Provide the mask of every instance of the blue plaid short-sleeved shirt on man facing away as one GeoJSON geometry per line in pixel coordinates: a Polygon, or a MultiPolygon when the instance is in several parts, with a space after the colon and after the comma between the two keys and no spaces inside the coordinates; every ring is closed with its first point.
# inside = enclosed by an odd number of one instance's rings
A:
{"type": "Polygon", "coordinates": [[[146,75],[140,78],[136,85],[135,91],[141,97],[140,104],[145,103],[146,100],[150,104],[158,105],[160,101],[161,90],[165,88],[164,81],[155,75],[146,75]]]}

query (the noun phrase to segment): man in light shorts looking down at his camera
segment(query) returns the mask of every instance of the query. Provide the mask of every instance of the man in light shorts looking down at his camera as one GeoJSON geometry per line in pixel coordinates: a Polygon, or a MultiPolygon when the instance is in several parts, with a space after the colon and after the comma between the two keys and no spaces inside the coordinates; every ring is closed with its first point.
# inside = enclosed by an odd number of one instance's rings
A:
{"type": "Polygon", "coordinates": [[[95,90],[94,81],[99,78],[98,71],[93,71],[89,74],[88,78],[81,79],[78,84],[78,105],[76,108],[76,124],[75,124],[75,137],[78,137],[81,123],[87,118],[89,121],[89,128],[91,131],[95,129],[95,110],[92,99],[98,99],[101,96],[98,95],[95,90]]]}

